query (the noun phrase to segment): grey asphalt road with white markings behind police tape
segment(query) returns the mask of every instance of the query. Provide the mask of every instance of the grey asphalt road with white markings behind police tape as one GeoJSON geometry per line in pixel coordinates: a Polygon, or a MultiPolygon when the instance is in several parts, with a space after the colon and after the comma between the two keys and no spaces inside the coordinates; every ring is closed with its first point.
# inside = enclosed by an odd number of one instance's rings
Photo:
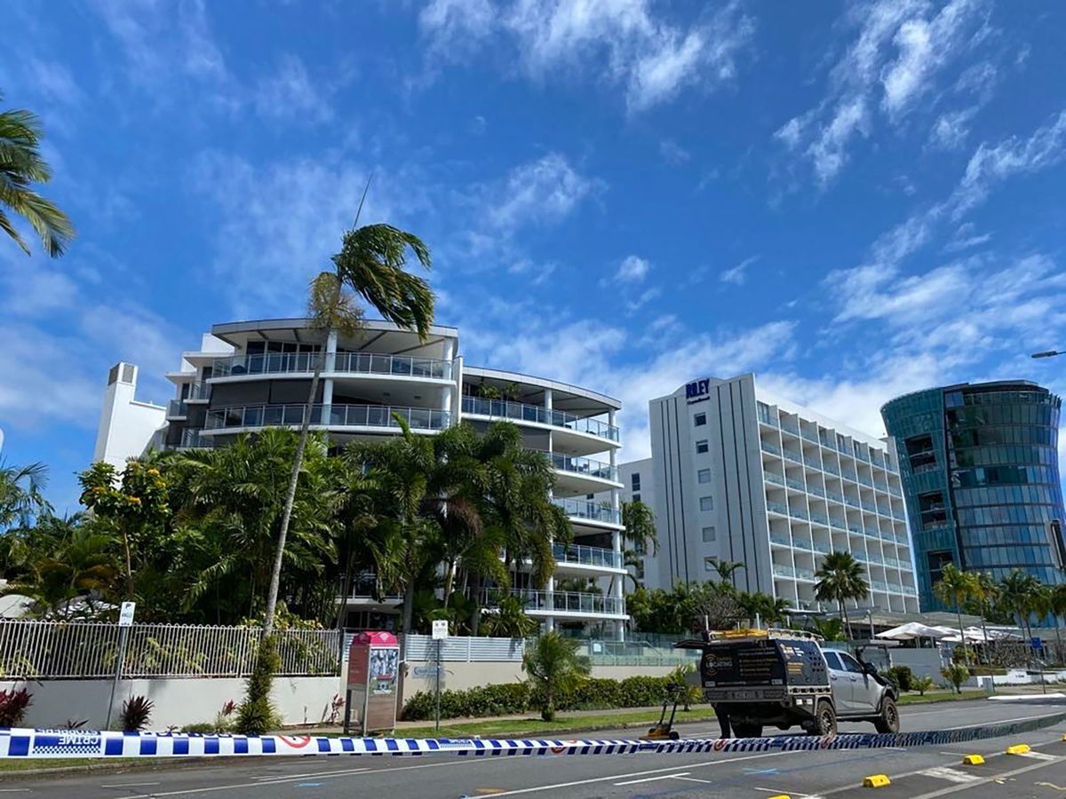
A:
{"type": "MultiPolygon", "coordinates": [[[[956,702],[903,708],[904,731],[944,730],[1021,720],[1061,713],[1050,701],[956,702]]],[[[714,724],[679,728],[684,737],[717,737],[714,724]]],[[[841,728],[868,732],[869,724],[841,728]]],[[[598,738],[631,737],[632,730],[597,733],[598,738]]],[[[149,799],[461,799],[521,796],[531,799],[645,799],[728,797],[769,799],[849,797],[877,799],[971,797],[1063,797],[1066,795],[1066,724],[966,745],[899,750],[752,752],[731,754],[631,754],[609,756],[528,756],[458,759],[301,757],[215,763],[205,767],[78,774],[65,779],[0,777],[0,799],[7,796],[149,799]],[[1008,745],[1025,743],[1028,756],[1006,755],[1008,745]],[[967,753],[984,754],[982,766],[964,766],[967,753]],[[885,773],[891,785],[862,788],[868,774],[885,773]]]]}

